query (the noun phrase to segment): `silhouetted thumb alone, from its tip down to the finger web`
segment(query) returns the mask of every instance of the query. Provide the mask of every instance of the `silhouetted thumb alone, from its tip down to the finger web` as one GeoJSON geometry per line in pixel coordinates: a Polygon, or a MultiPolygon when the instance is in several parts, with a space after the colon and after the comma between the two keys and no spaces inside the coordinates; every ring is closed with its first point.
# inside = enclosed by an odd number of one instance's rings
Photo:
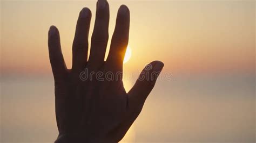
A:
{"type": "Polygon", "coordinates": [[[138,80],[128,92],[129,107],[137,108],[143,106],[147,96],[150,94],[157,81],[164,63],[161,61],[153,61],[149,63],[140,73],[138,80]]]}

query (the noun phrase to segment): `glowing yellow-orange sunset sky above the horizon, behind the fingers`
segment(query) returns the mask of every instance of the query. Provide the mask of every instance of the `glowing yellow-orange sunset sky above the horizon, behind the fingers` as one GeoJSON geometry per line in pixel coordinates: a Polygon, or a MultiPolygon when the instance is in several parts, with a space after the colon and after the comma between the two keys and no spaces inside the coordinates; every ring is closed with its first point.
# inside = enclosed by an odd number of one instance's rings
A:
{"type": "MultiPolygon", "coordinates": [[[[109,1],[110,38],[120,4],[131,11],[127,71],[161,60],[174,73],[253,72],[255,3],[109,1]]],[[[47,34],[56,25],[66,64],[79,11],[87,6],[95,20],[96,2],[2,1],[2,73],[50,74],[47,34]]],[[[89,40],[90,41],[90,40],[89,40]]]]}

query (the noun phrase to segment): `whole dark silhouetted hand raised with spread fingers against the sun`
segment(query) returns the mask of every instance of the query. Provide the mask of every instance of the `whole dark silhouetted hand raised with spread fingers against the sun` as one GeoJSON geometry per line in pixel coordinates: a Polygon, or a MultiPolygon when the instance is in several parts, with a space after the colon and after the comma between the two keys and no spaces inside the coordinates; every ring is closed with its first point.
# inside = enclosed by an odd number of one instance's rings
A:
{"type": "Polygon", "coordinates": [[[91,51],[87,60],[90,19],[89,9],[80,11],[72,47],[72,69],[66,69],[57,28],[51,26],[49,30],[48,46],[55,79],[59,130],[56,142],[120,141],[138,117],[164,66],[160,61],[151,62],[144,68],[132,89],[126,93],[122,71],[129,39],[129,9],[122,5],[118,10],[106,61],[104,56],[109,39],[109,4],[106,1],[97,2],[91,51]],[[95,74],[89,77],[91,73],[95,74]],[[107,77],[111,74],[113,76],[107,78],[106,73],[107,77]],[[99,75],[102,76],[99,78],[99,75]]]}

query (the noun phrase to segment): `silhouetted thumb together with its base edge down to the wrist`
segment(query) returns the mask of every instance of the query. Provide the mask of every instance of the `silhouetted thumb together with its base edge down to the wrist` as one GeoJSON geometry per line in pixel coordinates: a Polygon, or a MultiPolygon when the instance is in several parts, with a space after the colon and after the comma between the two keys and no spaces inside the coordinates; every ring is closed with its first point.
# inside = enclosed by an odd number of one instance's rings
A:
{"type": "Polygon", "coordinates": [[[129,130],[133,121],[138,117],[142,111],[143,104],[150,94],[156,83],[157,77],[164,67],[164,63],[160,61],[153,61],[149,63],[140,73],[138,80],[128,92],[128,112],[122,124],[120,124],[113,132],[117,140],[121,140],[125,133],[129,130]]]}

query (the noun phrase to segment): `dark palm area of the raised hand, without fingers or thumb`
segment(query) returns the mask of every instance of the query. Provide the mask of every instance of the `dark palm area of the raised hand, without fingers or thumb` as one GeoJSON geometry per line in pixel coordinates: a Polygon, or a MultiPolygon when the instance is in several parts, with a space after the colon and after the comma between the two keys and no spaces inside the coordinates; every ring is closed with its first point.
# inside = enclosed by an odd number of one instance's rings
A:
{"type": "Polygon", "coordinates": [[[97,138],[114,130],[127,111],[123,82],[77,77],[79,75],[70,72],[63,78],[68,80],[56,82],[56,98],[60,97],[56,102],[59,130],[90,137],[97,134],[97,138]]]}

